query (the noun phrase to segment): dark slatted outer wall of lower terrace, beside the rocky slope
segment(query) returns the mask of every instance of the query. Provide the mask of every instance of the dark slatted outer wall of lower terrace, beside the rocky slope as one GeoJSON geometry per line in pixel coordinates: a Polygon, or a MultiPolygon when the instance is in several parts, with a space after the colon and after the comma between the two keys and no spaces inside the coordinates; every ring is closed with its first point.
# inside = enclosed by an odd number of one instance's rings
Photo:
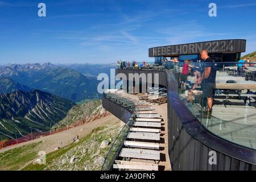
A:
{"type": "Polygon", "coordinates": [[[110,111],[115,117],[121,119],[123,122],[127,123],[133,114],[130,110],[122,105],[117,104],[116,102],[103,96],[102,106],[110,111]]]}

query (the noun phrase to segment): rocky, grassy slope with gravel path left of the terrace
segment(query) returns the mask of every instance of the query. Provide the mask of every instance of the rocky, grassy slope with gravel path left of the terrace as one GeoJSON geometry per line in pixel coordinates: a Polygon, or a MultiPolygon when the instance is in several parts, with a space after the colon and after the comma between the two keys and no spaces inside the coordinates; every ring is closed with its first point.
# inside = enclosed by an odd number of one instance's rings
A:
{"type": "Polygon", "coordinates": [[[1,170],[100,170],[112,142],[123,125],[119,119],[109,115],[60,133],[23,143],[19,147],[4,148],[0,150],[0,163],[7,160],[7,156],[20,153],[20,150],[24,152],[20,158],[15,155],[11,168],[10,165],[3,163],[0,168],[1,170]],[[28,147],[31,145],[32,147],[28,147]],[[38,151],[46,151],[45,165],[36,164],[38,151]],[[15,166],[16,164],[19,165],[15,166]]]}

